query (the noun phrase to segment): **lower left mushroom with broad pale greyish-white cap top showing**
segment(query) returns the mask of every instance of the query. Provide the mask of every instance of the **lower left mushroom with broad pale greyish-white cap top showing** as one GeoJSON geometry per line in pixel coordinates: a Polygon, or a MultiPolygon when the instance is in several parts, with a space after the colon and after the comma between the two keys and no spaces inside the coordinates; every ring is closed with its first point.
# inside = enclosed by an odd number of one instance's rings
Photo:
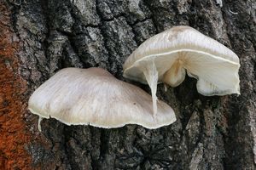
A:
{"type": "Polygon", "coordinates": [[[66,68],[32,94],[28,109],[39,117],[54,117],[67,125],[109,128],[131,123],[157,128],[176,121],[169,105],[162,101],[157,105],[158,116],[154,117],[149,94],[101,68],[66,68]]]}

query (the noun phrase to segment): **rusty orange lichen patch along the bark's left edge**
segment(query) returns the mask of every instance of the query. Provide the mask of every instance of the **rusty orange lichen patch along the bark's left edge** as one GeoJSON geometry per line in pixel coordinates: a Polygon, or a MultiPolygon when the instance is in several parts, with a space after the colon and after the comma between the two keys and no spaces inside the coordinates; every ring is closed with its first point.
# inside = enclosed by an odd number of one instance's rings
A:
{"type": "Polygon", "coordinates": [[[22,118],[26,82],[18,75],[18,42],[11,31],[9,9],[0,2],[0,169],[32,169],[25,150],[31,137],[22,118]]]}

